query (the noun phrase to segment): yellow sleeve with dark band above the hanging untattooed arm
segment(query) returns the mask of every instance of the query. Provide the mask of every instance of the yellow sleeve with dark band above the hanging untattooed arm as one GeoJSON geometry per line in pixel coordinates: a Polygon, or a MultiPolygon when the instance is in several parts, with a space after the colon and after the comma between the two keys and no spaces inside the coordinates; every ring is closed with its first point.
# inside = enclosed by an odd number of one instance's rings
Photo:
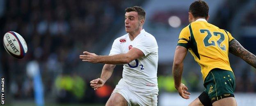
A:
{"type": "Polygon", "coordinates": [[[189,48],[188,43],[190,41],[190,31],[188,27],[185,27],[181,30],[181,33],[178,38],[178,46],[183,46],[185,48],[189,48]]]}

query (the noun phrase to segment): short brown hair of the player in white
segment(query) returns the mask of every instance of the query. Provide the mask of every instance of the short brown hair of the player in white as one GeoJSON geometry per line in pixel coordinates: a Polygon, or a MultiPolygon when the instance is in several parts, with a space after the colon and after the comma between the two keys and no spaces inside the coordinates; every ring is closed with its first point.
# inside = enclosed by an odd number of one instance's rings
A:
{"type": "Polygon", "coordinates": [[[146,12],[145,12],[145,10],[144,10],[142,7],[133,6],[133,7],[128,7],[128,8],[126,8],[126,10],[125,10],[125,12],[131,12],[131,11],[135,11],[135,12],[138,13],[138,15],[139,15],[139,20],[142,20],[142,19],[145,20],[146,12]]]}

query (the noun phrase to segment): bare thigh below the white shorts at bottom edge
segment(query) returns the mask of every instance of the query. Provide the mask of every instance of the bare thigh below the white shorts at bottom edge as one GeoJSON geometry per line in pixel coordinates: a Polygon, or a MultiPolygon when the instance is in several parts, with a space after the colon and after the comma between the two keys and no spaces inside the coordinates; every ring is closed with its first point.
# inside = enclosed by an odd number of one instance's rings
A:
{"type": "Polygon", "coordinates": [[[107,100],[106,106],[128,106],[128,104],[121,94],[113,93],[107,100]]]}

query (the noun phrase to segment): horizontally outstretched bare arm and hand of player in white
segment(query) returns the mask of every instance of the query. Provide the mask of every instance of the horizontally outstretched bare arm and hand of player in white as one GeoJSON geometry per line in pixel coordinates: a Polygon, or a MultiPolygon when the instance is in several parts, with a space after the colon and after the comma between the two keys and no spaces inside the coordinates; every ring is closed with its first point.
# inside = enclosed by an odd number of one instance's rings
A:
{"type": "Polygon", "coordinates": [[[87,51],[83,52],[83,54],[84,55],[80,55],[80,59],[82,59],[82,61],[104,64],[128,64],[133,60],[144,56],[144,53],[137,48],[132,48],[128,51],[128,53],[118,55],[102,56],[89,53],[87,51]]]}

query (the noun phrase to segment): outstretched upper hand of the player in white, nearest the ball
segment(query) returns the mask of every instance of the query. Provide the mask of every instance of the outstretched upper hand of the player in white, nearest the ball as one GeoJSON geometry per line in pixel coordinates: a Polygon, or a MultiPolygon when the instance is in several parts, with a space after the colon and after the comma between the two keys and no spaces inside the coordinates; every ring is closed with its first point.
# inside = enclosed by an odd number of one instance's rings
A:
{"type": "Polygon", "coordinates": [[[98,63],[98,55],[95,53],[89,53],[87,51],[83,52],[83,55],[80,55],[79,58],[84,62],[98,63]]]}

